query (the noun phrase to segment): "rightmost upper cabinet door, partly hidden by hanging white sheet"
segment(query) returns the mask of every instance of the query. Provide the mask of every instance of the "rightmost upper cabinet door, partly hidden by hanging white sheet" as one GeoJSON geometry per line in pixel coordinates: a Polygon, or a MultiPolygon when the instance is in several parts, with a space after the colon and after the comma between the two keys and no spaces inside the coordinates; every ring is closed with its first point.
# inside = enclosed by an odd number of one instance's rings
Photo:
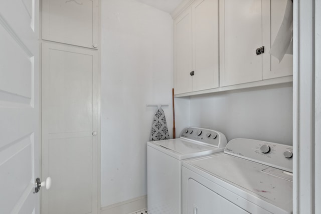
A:
{"type": "Polygon", "coordinates": [[[287,0],[263,0],[263,45],[265,53],[262,54],[263,79],[292,75],[293,54],[285,54],[279,62],[269,54],[270,47],[281,26],[287,0]]]}

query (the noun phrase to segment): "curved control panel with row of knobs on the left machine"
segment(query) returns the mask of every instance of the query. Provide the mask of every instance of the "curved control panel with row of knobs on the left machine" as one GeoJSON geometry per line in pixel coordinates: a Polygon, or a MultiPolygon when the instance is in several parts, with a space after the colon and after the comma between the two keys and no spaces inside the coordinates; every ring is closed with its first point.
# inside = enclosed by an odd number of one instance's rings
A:
{"type": "Polygon", "coordinates": [[[182,131],[181,138],[195,140],[217,148],[224,148],[227,140],[223,133],[206,128],[187,127],[182,131]]]}

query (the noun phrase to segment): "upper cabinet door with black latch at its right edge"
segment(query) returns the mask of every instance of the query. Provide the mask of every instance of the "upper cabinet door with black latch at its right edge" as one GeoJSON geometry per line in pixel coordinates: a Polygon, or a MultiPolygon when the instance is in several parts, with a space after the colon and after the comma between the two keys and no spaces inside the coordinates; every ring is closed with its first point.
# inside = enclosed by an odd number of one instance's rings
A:
{"type": "Polygon", "coordinates": [[[262,80],[262,1],[220,0],[220,86],[262,80]]]}

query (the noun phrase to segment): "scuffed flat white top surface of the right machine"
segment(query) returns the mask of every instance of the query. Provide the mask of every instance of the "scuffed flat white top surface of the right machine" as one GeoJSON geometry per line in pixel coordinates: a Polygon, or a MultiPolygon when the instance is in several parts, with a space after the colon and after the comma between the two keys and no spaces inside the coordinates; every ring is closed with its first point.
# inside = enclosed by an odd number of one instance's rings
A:
{"type": "MultiPolygon", "coordinates": [[[[205,171],[202,175],[207,178],[222,179],[287,212],[292,211],[293,183],[292,175],[287,171],[225,153],[188,160],[187,163],[183,165],[190,168],[191,164],[205,171]]],[[[229,188],[227,185],[224,187],[229,188]]]]}

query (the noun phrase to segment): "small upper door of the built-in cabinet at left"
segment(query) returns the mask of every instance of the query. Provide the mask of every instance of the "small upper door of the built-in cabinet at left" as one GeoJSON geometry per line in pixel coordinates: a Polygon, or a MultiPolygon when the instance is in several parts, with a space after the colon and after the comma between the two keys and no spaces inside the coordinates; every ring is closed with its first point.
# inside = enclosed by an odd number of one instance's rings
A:
{"type": "Polygon", "coordinates": [[[43,0],[43,39],[98,47],[98,0],[43,0]]]}

